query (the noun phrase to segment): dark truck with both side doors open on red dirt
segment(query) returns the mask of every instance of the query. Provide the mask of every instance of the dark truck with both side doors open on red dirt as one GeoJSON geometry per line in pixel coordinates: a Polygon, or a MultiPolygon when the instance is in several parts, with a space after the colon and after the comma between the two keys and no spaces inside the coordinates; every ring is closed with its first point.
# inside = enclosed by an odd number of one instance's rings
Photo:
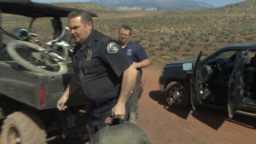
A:
{"type": "Polygon", "coordinates": [[[224,107],[256,117],[256,43],[239,43],[218,49],[201,60],[175,61],[163,67],[160,90],[170,107],[197,104],[224,107]]]}

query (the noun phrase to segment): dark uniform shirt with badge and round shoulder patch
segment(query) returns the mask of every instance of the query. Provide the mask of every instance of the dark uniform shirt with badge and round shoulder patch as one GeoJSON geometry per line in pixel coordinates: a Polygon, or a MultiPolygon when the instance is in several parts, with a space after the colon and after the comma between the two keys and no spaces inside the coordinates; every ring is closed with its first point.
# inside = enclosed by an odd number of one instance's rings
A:
{"type": "Polygon", "coordinates": [[[132,61],[113,39],[93,30],[74,49],[73,67],[85,95],[96,103],[119,96],[122,74],[132,61]]]}

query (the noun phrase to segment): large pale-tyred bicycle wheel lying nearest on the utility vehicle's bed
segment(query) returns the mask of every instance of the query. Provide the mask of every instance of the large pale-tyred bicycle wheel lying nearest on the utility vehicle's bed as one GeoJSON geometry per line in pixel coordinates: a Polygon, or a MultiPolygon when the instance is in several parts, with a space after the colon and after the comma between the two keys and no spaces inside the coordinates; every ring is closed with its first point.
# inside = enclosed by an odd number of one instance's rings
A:
{"type": "Polygon", "coordinates": [[[32,72],[62,74],[67,72],[66,64],[56,62],[44,53],[44,48],[35,43],[15,40],[7,44],[12,59],[32,72]]]}

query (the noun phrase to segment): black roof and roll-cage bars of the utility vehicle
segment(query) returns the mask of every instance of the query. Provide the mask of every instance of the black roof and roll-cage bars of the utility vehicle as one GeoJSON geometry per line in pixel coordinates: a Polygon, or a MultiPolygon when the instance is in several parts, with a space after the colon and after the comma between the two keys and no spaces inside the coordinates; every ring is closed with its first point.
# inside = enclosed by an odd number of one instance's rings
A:
{"type": "MultiPolygon", "coordinates": [[[[0,0],[0,27],[1,12],[4,14],[17,14],[31,17],[32,20],[28,28],[32,27],[33,21],[37,18],[52,17],[53,19],[51,22],[55,31],[55,36],[57,37],[62,32],[61,17],[66,17],[67,14],[72,12],[73,10],[75,9],[58,7],[47,3],[35,3],[31,0],[0,0]]],[[[97,15],[94,13],[90,14],[92,17],[97,17],[97,15]]]]}

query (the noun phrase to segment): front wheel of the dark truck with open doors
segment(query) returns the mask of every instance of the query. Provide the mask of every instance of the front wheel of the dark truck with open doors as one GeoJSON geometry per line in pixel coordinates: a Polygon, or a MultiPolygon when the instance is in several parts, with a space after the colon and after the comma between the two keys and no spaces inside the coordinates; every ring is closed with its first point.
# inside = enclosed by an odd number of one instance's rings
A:
{"type": "Polygon", "coordinates": [[[185,109],[189,107],[189,90],[181,82],[172,82],[165,91],[166,102],[170,107],[185,109]]]}

